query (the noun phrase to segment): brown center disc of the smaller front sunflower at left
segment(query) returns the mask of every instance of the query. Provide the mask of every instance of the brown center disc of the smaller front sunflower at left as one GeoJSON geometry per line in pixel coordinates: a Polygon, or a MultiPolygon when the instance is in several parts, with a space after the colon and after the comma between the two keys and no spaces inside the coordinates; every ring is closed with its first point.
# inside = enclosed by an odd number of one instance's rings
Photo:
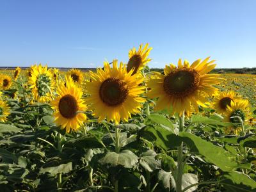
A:
{"type": "Polygon", "coordinates": [[[65,118],[73,118],[77,112],[77,101],[72,95],[65,95],[59,102],[60,114],[65,118]]]}

